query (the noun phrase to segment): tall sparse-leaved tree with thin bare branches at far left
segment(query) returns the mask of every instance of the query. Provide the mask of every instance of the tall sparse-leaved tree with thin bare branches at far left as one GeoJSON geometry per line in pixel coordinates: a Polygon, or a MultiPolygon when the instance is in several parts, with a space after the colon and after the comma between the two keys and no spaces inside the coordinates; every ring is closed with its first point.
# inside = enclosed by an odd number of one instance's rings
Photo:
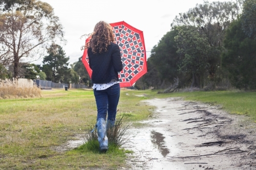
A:
{"type": "Polygon", "coordinates": [[[0,62],[14,63],[14,78],[18,78],[20,59],[36,56],[40,47],[56,38],[63,40],[63,31],[47,3],[14,0],[4,4],[8,10],[0,14],[0,62]]]}

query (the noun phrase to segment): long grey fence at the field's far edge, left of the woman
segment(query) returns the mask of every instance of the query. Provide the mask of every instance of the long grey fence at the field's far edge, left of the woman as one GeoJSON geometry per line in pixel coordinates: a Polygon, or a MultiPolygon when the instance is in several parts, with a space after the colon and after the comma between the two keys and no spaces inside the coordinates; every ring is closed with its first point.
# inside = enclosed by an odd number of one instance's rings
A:
{"type": "Polygon", "coordinates": [[[52,88],[65,88],[65,86],[68,86],[68,88],[88,88],[88,86],[84,84],[64,84],[64,83],[53,83],[52,81],[47,80],[34,80],[37,87],[41,89],[52,89],[52,88]]]}

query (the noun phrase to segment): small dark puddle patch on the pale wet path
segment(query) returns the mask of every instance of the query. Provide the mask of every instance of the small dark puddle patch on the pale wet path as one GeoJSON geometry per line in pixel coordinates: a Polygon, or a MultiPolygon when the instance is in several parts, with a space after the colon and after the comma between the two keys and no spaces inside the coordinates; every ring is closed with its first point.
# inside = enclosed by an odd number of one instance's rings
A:
{"type": "Polygon", "coordinates": [[[164,145],[164,136],[161,133],[158,133],[156,131],[151,131],[151,141],[153,144],[157,145],[158,150],[161,152],[161,154],[165,157],[169,152],[168,148],[164,145]]]}

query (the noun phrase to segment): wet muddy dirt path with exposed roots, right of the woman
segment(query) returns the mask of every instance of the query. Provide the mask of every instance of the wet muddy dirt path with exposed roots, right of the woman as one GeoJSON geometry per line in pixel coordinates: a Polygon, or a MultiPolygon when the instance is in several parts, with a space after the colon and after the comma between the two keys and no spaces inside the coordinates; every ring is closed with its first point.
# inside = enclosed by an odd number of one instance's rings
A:
{"type": "Polygon", "coordinates": [[[129,131],[126,169],[256,169],[256,124],[248,117],[178,98],[145,102],[157,109],[129,131]]]}

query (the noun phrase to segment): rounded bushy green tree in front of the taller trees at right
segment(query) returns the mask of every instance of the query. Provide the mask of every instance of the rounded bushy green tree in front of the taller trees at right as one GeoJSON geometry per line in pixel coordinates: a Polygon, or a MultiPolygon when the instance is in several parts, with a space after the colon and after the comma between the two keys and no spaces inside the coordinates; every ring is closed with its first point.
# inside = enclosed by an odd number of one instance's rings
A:
{"type": "Polygon", "coordinates": [[[196,27],[178,27],[178,35],[175,37],[181,64],[179,70],[183,74],[191,75],[191,87],[201,87],[200,78],[209,67],[208,54],[210,46],[207,37],[200,34],[196,27]]]}

